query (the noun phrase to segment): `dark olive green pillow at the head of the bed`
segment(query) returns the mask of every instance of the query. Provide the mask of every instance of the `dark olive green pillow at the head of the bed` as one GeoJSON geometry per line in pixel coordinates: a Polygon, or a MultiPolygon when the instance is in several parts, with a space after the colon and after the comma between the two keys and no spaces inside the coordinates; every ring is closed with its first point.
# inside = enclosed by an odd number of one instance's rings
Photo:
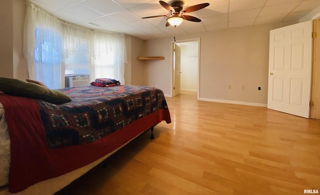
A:
{"type": "Polygon", "coordinates": [[[52,104],[62,104],[71,101],[62,91],[52,90],[15,78],[0,77],[0,91],[8,95],[39,99],[52,104]]]}

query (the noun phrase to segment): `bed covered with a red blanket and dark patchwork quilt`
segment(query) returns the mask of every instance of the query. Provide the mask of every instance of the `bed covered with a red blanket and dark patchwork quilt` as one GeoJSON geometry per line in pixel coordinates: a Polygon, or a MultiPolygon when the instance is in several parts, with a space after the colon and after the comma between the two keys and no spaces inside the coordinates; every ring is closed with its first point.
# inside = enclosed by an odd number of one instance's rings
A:
{"type": "Polygon", "coordinates": [[[53,194],[141,133],[171,122],[157,88],[59,91],[71,101],[53,104],[0,92],[0,194],[53,194]]]}

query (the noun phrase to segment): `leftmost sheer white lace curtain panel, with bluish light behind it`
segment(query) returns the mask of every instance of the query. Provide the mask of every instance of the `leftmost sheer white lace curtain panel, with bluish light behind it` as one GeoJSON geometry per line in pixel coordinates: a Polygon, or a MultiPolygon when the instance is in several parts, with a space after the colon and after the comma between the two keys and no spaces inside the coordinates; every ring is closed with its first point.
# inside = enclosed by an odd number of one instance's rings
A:
{"type": "Polygon", "coordinates": [[[23,52],[30,79],[50,88],[61,88],[61,22],[28,4],[24,24],[23,52]]]}

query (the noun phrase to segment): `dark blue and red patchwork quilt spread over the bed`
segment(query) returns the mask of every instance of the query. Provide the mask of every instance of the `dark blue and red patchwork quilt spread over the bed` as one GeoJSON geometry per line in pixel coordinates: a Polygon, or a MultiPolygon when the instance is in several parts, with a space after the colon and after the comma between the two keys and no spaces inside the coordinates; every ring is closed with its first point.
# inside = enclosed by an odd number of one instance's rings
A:
{"type": "Polygon", "coordinates": [[[167,109],[161,90],[118,85],[61,89],[72,100],[54,105],[38,101],[49,148],[91,143],[134,120],[167,109]]]}

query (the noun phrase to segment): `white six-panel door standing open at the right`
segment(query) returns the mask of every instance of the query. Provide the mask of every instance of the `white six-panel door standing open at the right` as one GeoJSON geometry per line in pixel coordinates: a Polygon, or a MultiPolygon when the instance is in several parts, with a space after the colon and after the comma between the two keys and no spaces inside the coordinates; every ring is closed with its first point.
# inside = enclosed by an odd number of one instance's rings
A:
{"type": "Polygon", "coordinates": [[[312,23],[270,30],[267,108],[309,118],[312,23]]]}

